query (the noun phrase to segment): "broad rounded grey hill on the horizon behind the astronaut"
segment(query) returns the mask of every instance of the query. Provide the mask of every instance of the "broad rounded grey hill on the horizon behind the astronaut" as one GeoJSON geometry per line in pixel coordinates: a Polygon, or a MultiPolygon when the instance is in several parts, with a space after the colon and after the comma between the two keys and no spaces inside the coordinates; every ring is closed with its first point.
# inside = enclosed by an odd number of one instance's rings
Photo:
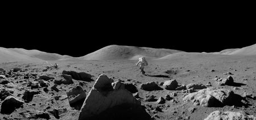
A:
{"type": "Polygon", "coordinates": [[[137,60],[139,57],[144,56],[147,59],[156,59],[164,57],[169,54],[183,52],[180,50],[172,49],[154,49],[136,46],[120,46],[109,45],[96,52],[87,54],[80,59],[84,60],[111,60],[111,59],[130,59],[137,60]]]}

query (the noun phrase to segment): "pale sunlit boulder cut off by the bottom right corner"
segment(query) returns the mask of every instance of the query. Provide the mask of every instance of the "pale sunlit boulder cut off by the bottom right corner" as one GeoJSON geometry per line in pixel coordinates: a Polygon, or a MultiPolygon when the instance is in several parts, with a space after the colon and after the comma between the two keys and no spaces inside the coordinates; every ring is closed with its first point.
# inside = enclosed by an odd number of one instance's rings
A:
{"type": "Polygon", "coordinates": [[[220,112],[219,110],[214,111],[208,115],[204,120],[221,119],[221,120],[255,120],[256,117],[253,115],[245,115],[239,112],[220,112]]]}

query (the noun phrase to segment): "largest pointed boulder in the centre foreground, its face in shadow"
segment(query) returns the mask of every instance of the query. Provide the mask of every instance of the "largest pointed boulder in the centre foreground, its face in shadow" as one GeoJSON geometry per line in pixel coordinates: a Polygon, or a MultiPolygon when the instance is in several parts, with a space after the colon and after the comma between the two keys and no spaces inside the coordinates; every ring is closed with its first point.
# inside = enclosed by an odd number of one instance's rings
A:
{"type": "Polygon", "coordinates": [[[79,119],[150,119],[141,102],[127,91],[123,83],[113,84],[106,75],[100,75],[85,98],[79,119]],[[145,117],[145,114],[148,116],[145,117]]]}

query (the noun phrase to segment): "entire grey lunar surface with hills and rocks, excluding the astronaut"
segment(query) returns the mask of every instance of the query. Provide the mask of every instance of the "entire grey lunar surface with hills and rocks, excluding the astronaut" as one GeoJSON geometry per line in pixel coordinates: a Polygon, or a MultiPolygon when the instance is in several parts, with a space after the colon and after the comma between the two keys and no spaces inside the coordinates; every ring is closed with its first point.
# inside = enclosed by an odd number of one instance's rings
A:
{"type": "Polygon", "coordinates": [[[256,44],[214,53],[0,47],[0,119],[256,119],[256,44]],[[146,74],[136,66],[146,57],[146,74]]]}

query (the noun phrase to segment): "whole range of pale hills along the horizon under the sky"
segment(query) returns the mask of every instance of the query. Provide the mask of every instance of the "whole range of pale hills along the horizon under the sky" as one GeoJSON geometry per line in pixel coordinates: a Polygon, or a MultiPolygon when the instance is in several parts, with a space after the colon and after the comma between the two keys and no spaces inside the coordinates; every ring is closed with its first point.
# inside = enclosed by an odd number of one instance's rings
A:
{"type": "MultiPolygon", "coordinates": [[[[177,56],[189,56],[205,53],[188,53],[181,50],[155,49],[137,46],[109,45],[95,52],[86,54],[82,57],[71,57],[56,53],[46,53],[39,50],[26,50],[22,48],[2,48],[0,47],[0,63],[2,62],[21,62],[21,61],[85,61],[85,60],[113,60],[129,59],[137,60],[143,56],[147,59],[170,59],[177,56]]],[[[207,53],[221,55],[256,55],[256,44],[246,46],[241,49],[225,49],[221,52],[207,53]]]]}

